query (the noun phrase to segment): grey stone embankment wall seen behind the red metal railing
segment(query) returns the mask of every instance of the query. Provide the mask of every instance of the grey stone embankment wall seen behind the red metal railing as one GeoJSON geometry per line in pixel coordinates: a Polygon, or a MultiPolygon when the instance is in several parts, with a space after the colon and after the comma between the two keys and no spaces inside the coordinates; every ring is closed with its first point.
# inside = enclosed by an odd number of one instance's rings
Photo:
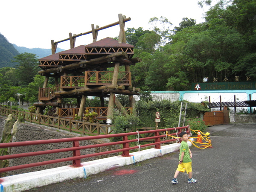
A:
{"type": "MultiPolygon", "coordinates": [[[[0,125],[4,124],[5,120],[0,119],[0,125]]],[[[69,137],[81,137],[81,135],[73,135],[67,131],[59,131],[55,128],[49,128],[44,125],[36,125],[29,122],[26,123],[15,123],[17,124],[17,132],[12,134],[12,142],[20,142],[20,141],[29,141],[29,140],[49,140],[49,139],[60,139],[60,138],[69,138],[69,137]]],[[[14,125],[15,127],[15,125],[14,125]]],[[[1,127],[2,129],[2,127],[1,127]]],[[[2,132],[2,131],[1,131],[2,132]]],[[[106,141],[102,140],[86,140],[86,141],[79,141],[80,146],[84,145],[93,145],[93,144],[99,144],[99,143],[106,143],[106,141]]],[[[33,145],[33,146],[20,146],[20,147],[13,147],[11,149],[10,154],[19,154],[19,153],[26,153],[26,152],[32,152],[32,151],[44,151],[44,150],[51,150],[51,149],[58,149],[58,148],[69,148],[72,147],[73,143],[54,143],[54,144],[48,144],[48,145],[33,145]]],[[[80,150],[81,155],[84,154],[92,154],[102,151],[110,151],[120,148],[119,145],[114,146],[106,146],[106,147],[99,147],[99,148],[91,148],[91,149],[84,149],[80,150]]],[[[91,161],[106,157],[112,157],[116,156],[118,154],[107,154],[102,155],[98,157],[89,157],[86,159],[82,159],[81,162],[85,161],[91,161]]],[[[73,157],[73,151],[68,152],[62,152],[58,154],[47,154],[47,155],[38,155],[33,157],[24,157],[24,158],[17,158],[17,159],[11,159],[9,160],[9,166],[17,166],[22,164],[28,164],[28,163],[35,163],[35,162],[41,162],[41,161],[47,161],[47,160],[54,160],[54,159],[60,159],[65,157],[73,157]]],[[[62,163],[55,163],[50,164],[46,166],[39,166],[39,167],[33,167],[28,169],[21,169],[17,171],[8,172],[8,175],[17,175],[21,173],[26,172],[34,172],[44,169],[50,169],[60,166],[67,166],[72,165],[72,161],[62,162],[62,163]]]]}

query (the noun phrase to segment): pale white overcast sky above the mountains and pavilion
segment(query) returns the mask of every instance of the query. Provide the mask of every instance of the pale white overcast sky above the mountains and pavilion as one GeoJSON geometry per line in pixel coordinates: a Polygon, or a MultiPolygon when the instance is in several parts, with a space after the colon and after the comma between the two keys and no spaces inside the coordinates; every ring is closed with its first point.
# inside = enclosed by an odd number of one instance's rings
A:
{"type": "MultiPolygon", "coordinates": [[[[118,21],[118,14],[131,17],[129,27],[150,29],[152,17],[166,17],[173,26],[179,26],[183,17],[204,22],[204,9],[198,0],[2,0],[0,33],[12,44],[28,48],[51,48],[51,40],[69,37],[91,30],[91,24],[100,27],[118,21]]],[[[119,26],[99,31],[97,40],[119,35],[119,26]]],[[[92,35],[76,38],[76,46],[92,43],[92,35]]],[[[58,44],[70,49],[69,41],[58,44]]]]}

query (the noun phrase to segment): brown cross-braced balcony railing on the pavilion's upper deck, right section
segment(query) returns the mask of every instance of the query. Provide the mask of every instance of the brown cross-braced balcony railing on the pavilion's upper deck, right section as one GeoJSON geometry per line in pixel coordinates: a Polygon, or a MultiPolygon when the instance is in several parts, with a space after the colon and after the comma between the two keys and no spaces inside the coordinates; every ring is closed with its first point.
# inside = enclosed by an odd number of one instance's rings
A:
{"type": "MultiPolygon", "coordinates": [[[[112,83],[113,71],[85,71],[86,85],[107,85],[112,83]]],[[[131,72],[118,72],[118,85],[131,85],[131,72]]]]}

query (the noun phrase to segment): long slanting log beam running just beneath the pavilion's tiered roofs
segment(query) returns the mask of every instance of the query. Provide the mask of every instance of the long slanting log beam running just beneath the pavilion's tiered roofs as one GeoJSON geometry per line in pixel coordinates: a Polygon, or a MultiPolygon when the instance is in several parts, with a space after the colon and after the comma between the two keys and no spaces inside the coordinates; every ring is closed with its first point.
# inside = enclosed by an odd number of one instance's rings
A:
{"type": "Polygon", "coordinates": [[[87,64],[89,64],[88,67],[91,67],[90,64],[99,64],[102,62],[107,62],[108,58],[112,58],[112,57],[128,57],[126,52],[116,52],[110,55],[105,55],[103,57],[99,57],[99,58],[94,58],[94,59],[90,59],[89,61],[84,60],[84,61],[80,61],[77,63],[73,63],[73,64],[68,64],[65,66],[61,66],[61,67],[55,67],[55,68],[51,68],[51,69],[47,69],[47,70],[40,70],[38,71],[39,74],[41,73],[57,73],[60,72],[60,70],[71,70],[71,69],[76,69],[76,68],[80,68],[81,64],[83,65],[83,67],[87,67],[87,64]]]}

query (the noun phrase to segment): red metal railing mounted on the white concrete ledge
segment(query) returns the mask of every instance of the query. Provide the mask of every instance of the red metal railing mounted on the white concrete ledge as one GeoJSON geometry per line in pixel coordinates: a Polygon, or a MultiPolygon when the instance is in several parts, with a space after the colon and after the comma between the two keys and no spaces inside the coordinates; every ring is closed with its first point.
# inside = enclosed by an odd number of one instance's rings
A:
{"type": "Polygon", "coordinates": [[[26,169],[30,167],[49,165],[53,163],[66,162],[71,160],[73,161],[73,166],[81,166],[81,159],[88,158],[88,157],[96,157],[96,156],[105,155],[105,154],[112,154],[112,153],[121,152],[121,151],[122,151],[122,156],[128,157],[129,150],[136,149],[136,148],[143,148],[151,145],[155,145],[155,148],[160,148],[161,143],[170,143],[172,141],[175,141],[176,139],[163,140],[163,141],[160,140],[160,138],[166,137],[166,134],[160,135],[160,132],[165,132],[165,131],[170,132],[174,130],[175,130],[175,133],[172,133],[170,135],[174,135],[174,136],[176,136],[177,134],[179,135],[181,131],[186,131],[187,133],[189,133],[189,127],[186,126],[186,127],[157,129],[157,130],[151,130],[151,131],[138,131],[138,132],[122,133],[122,134],[111,134],[111,135],[100,135],[100,136],[89,136],[89,137],[73,137],[73,138],[52,139],[52,140],[24,141],[24,142],[14,142],[14,143],[0,143],[0,148],[10,148],[10,147],[13,148],[13,147],[29,146],[29,145],[46,145],[46,144],[52,144],[52,143],[73,142],[73,147],[70,147],[70,148],[59,148],[59,149],[52,149],[52,150],[46,150],[46,151],[35,151],[35,152],[28,152],[28,153],[22,153],[22,154],[10,154],[10,155],[0,156],[0,160],[7,160],[7,159],[22,158],[22,157],[37,156],[42,154],[53,154],[53,153],[60,153],[64,151],[73,151],[73,157],[66,157],[66,158],[61,158],[56,160],[48,160],[48,161],[43,161],[38,163],[29,163],[29,164],[23,164],[18,166],[1,168],[0,172],[9,172],[9,171],[14,171],[18,169],[26,169]],[[128,140],[129,135],[148,134],[148,133],[154,133],[154,136],[128,140]],[[123,140],[117,141],[117,142],[110,142],[110,143],[79,146],[79,141],[82,141],[82,140],[95,140],[95,139],[103,139],[103,138],[111,138],[111,137],[122,137],[123,140]],[[143,140],[149,140],[149,139],[154,139],[154,143],[148,143],[145,145],[129,147],[129,143],[131,142],[137,142],[138,140],[143,141],[143,140]],[[103,152],[93,153],[93,154],[80,155],[81,149],[96,148],[96,147],[118,145],[118,144],[122,144],[123,148],[111,150],[111,151],[103,151],[103,152]]]}

